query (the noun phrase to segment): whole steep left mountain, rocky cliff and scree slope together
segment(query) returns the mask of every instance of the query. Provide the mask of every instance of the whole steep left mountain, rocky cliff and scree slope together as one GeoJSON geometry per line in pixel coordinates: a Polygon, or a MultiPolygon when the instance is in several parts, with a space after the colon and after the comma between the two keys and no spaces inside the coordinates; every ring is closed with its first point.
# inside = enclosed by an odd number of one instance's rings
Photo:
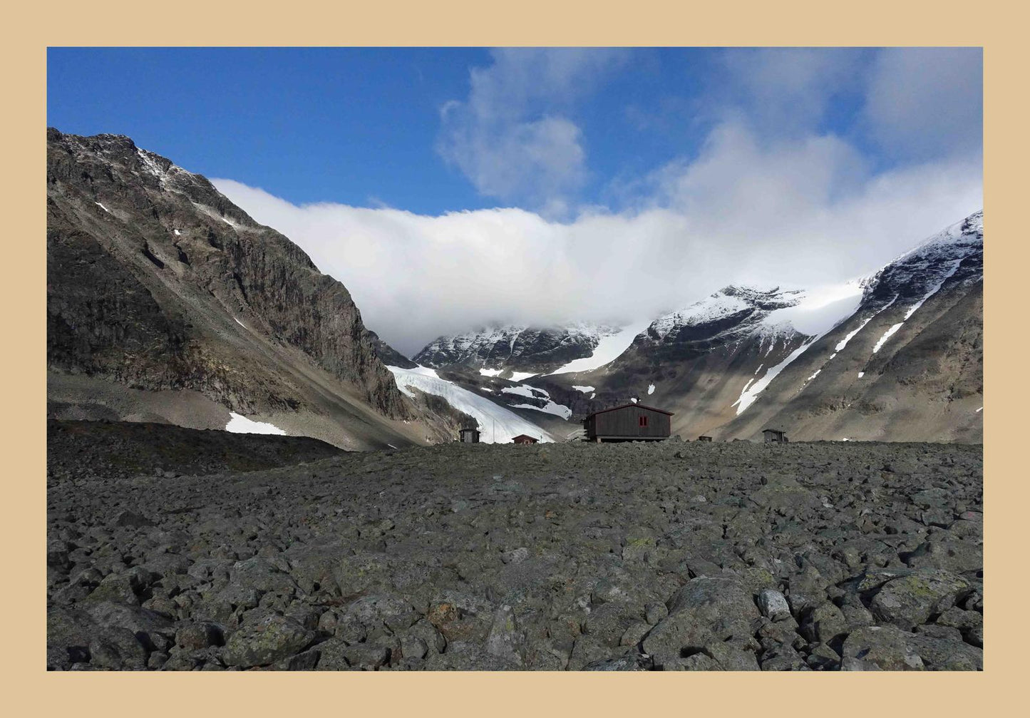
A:
{"type": "Polygon", "coordinates": [[[397,387],[379,358],[396,352],[346,287],[286,237],[128,137],[46,140],[52,416],[258,416],[344,448],[449,435],[397,387]]]}

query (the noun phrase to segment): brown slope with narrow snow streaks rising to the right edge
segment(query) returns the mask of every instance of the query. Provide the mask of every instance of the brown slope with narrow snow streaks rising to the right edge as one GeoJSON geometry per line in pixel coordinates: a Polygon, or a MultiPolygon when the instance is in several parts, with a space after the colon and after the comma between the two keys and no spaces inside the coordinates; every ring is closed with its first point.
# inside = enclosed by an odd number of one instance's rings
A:
{"type": "Polygon", "coordinates": [[[857,310],[718,435],[983,442],[983,293],[980,211],[869,276],[857,310]]]}

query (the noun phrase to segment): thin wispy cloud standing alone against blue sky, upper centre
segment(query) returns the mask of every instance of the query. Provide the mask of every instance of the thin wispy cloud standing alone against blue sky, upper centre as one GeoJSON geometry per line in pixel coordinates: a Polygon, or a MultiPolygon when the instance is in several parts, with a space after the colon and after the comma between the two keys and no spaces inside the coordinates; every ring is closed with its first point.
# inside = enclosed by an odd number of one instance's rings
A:
{"type": "Polygon", "coordinates": [[[480,194],[562,215],[587,177],[582,132],[569,114],[623,57],[608,49],[494,50],[489,67],[470,71],[468,99],[441,108],[438,151],[480,194]]]}

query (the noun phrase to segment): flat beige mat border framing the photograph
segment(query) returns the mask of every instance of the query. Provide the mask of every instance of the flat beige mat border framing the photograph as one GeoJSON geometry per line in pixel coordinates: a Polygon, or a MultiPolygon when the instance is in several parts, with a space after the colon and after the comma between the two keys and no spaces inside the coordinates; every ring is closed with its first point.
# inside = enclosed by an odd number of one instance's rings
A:
{"type": "MultiPolygon", "coordinates": [[[[0,656],[8,715],[992,713],[1025,664],[1026,16],[994,2],[11,4],[4,10],[0,656]],[[45,62],[48,45],[977,45],[985,65],[986,614],[982,674],[47,674],[45,62]],[[1023,614],[1023,615],[1020,615],[1023,614]]],[[[1011,703],[1009,703],[1011,702],[1011,703]]]]}

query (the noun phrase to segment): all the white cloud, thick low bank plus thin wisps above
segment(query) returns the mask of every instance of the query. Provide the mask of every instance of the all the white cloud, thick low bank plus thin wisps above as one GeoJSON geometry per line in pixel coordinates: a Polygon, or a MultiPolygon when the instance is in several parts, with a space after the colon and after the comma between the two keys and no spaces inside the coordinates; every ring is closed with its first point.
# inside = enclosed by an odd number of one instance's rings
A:
{"type": "Polygon", "coordinates": [[[536,211],[297,206],[213,181],[341,280],[366,323],[409,355],[491,321],[633,321],[729,283],[852,278],[983,207],[968,56],[909,50],[745,53],[727,65],[732,92],[711,99],[696,157],[627,183],[624,211],[576,204],[587,170],[572,107],[621,58],[499,50],[472,70],[468,99],[444,108],[441,153],[480,192],[536,211]],[[912,148],[886,171],[868,135],[820,130],[837,84],[863,67],[876,68],[856,105],[865,129],[912,148]],[[952,103],[956,117],[930,116],[952,103]]]}

